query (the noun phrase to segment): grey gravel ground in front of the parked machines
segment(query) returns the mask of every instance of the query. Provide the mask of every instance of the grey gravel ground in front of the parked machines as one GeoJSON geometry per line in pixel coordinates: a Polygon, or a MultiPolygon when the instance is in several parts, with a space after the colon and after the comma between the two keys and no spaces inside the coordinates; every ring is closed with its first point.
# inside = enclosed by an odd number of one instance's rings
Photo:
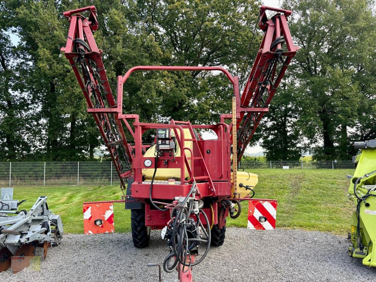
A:
{"type": "MultiPolygon", "coordinates": [[[[303,230],[256,231],[228,228],[223,246],[212,248],[193,268],[195,282],[209,281],[375,281],[376,268],[347,255],[349,241],[328,233],[303,230]]],[[[157,282],[156,267],[168,249],[152,231],[146,249],[135,249],[130,233],[67,234],[49,249],[41,271],[5,271],[1,281],[146,281],[157,282]]],[[[37,255],[42,255],[38,248],[37,255]]],[[[162,271],[162,278],[175,278],[162,271]]]]}

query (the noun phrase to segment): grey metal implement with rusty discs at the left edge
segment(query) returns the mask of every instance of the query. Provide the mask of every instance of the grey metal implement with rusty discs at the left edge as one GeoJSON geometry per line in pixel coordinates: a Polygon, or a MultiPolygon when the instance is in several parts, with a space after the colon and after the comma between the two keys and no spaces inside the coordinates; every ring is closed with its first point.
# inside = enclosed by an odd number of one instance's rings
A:
{"type": "Polygon", "coordinates": [[[46,196],[39,197],[29,212],[17,210],[23,201],[15,200],[16,208],[8,206],[13,199],[0,201],[0,271],[7,270],[11,262],[12,265],[17,262],[17,268],[14,269],[17,272],[29,265],[29,259],[21,257],[34,256],[36,246],[44,247],[46,256],[48,246],[56,246],[61,242],[64,234],[61,218],[51,212],[46,200],[46,196]]]}

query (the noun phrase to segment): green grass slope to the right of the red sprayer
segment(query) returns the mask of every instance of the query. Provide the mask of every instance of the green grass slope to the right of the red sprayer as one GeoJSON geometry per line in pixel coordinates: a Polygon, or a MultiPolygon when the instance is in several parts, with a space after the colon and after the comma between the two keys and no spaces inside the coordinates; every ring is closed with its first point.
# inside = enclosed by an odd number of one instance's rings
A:
{"type": "MultiPolygon", "coordinates": [[[[347,199],[353,170],[252,170],[258,174],[256,198],[276,199],[277,227],[345,234],[355,206],[347,199]]],[[[247,205],[230,226],[246,226],[247,205]]]]}

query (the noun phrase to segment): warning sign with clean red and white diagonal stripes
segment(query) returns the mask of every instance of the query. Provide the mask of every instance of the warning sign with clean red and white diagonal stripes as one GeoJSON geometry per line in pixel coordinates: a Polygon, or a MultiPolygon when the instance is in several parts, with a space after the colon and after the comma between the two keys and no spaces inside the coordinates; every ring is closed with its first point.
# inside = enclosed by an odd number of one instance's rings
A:
{"type": "Polygon", "coordinates": [[[253,199],[248,204],[248,229],[276,229],[277,200],[253,199]]]}

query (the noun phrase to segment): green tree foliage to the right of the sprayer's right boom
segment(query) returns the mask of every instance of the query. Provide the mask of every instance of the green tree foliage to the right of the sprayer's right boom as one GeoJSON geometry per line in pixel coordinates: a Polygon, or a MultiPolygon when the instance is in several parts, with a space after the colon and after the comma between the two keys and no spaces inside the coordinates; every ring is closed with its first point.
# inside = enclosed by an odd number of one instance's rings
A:
{"type": "Polygon", "coordinates": [[[287,158],[289,150],[297,158],[297,147],[314,159],[349,159],[354,141],[376,137],[374,2],[285,0],[282,6],[293,10],[290,31],[301,49],[288,70],[291,91],[277,91],[271,126],[264,121],[263,146],[273,159],[287,158]],[[281,104],[292,109],[287,123],[281,104]],[[270,151],[270,140],[288,145],[270,151]]]}

